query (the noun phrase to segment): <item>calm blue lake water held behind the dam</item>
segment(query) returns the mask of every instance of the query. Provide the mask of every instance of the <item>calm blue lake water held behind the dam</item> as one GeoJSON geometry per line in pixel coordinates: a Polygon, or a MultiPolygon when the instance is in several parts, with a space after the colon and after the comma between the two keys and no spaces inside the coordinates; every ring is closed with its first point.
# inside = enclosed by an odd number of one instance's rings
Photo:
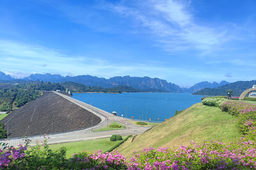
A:
{"type": "Polygon", "coordinates": [[[181,111],[201,102],[204,96],[175,93],[122,93],[122,94],[73,94],[73,98],[84,103],[92,104],[109,113],[117,112],[118,116],[125,116],[127,106],[127,118],[143,121],[164,121],[165,118],[174,116],[175,111],[181,111]],[[127,104],[126,104],[127,103],[127,104]]]}

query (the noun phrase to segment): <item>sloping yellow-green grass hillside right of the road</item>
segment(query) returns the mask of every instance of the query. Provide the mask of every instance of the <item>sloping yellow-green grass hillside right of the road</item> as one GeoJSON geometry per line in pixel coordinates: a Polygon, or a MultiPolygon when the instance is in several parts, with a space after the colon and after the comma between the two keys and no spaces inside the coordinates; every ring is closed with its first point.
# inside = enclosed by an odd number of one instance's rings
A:
{"type": "Polygon", "coordinates": [[[138,135],[133,142],[123,143],[118,150],[126,157],[133,156],[133,150],[140,152],[145,147],[177,148],[188,145],[191,140],[234,141],[239,138],[235,117],[222,112],[218,107],[197,103],[169,120],[138,135]]]}

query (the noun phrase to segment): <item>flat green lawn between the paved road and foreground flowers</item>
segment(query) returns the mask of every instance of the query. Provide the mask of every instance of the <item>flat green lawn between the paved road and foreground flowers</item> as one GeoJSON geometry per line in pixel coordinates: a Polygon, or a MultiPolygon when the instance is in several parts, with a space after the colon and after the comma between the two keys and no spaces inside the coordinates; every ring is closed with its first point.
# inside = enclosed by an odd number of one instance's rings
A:
{"type": "MultiPolygon", "coordinates": [[[[126,136],[122,138],[125,139],[126,136]]],[[[92,152],[101,150],[102,152],[105,152],[119,142],[121,141],[111,142],[109,138],[105,138],[80,142],[60,143],[56,145],[50,145],[49,148],[52,149],[53,151],[56,151],[61,147],[65,147],[67,149],[66,157],[69,158],[69,156],[72,156],[73,154],[78,152],[82,152],[83,150],[92,152]]]]}

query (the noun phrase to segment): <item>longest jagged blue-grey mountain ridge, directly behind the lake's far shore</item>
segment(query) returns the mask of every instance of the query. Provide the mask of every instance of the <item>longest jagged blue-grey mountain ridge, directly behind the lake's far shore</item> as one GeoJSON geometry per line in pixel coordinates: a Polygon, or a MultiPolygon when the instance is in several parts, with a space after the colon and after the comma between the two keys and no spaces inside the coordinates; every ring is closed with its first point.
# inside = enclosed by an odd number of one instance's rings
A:
{"type": "Polygon", "coordinates": [[[91,75],[78,75],[75,77],[62,77],[58,74],[31,74],[23,80],[32,80],[32,81],[50,81],[50,82],[75,82],[82,83],[85,86],[101,86],[103,88],[111,88],[119,85],[129,86],[138,90],[149,90],[153,91],[167,91],[167,92],[181,92],[181,89],[178,85],[174,83],[168,83],[166,80],[158,78],[149,78],[149,77],[130,77],[129,75],[125,77],[113,77],[110,79],[92,77],[91,75]]]}

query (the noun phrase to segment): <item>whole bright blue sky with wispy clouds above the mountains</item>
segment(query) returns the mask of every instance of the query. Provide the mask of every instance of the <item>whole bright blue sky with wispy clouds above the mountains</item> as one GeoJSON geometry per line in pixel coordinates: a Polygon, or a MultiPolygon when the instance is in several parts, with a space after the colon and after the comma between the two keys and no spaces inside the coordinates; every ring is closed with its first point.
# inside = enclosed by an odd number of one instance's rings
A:
{"type": "Polygon", "coordinates": [[[256,1],[0,1],[0,71],[256,79],[256,1]]]}

